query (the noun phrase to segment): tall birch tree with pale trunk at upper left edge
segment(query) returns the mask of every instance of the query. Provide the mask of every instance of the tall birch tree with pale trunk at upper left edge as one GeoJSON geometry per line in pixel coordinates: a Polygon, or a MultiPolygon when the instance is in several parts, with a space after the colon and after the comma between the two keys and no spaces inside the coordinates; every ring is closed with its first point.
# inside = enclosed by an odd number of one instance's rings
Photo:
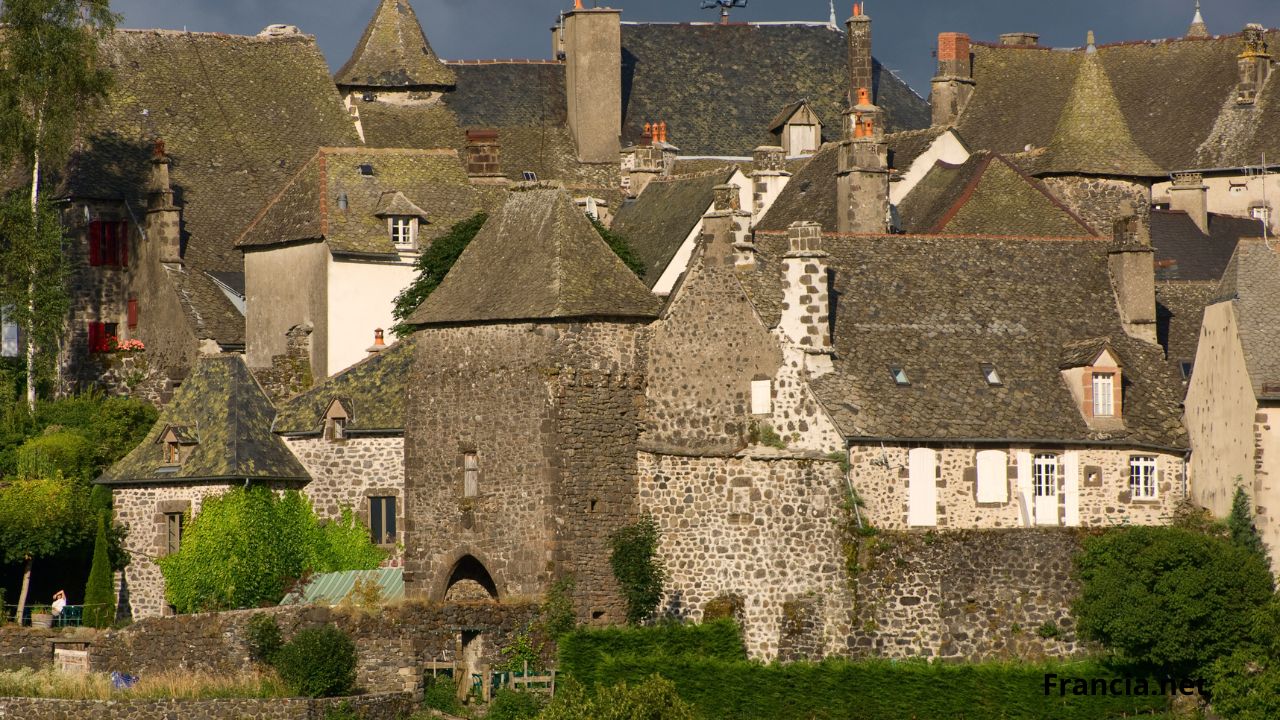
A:
{"type": "Polygon", "coordinates": [[[4,213],[4,300],[27,332],[27,404],[36,407],[38,359],[56,343],[67,313],[61,225],[44,201],[47,167],[69,154],[87,108],[111,76],[99,45],[115,27],[109,0],[5,0],[0,4],[0,167],[29,172],[26,222],[4,213]],[[56,259],[55,259],[56,255],[56,259]],[[52,273],[52,274],[50,274],[52,273]],[[41,354],[40,350],[45,352],[41,354]]]}

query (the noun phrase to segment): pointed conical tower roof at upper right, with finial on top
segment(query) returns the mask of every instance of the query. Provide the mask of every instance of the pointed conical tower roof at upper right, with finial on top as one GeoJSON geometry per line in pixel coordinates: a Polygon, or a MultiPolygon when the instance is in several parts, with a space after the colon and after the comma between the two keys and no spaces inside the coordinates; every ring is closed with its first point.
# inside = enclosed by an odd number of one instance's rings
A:
{"type": "Polygon", "coordinates": [[[1085,53],[1038,174],[1160,177],[1133,137],[1097,53],[1085,53]]]}

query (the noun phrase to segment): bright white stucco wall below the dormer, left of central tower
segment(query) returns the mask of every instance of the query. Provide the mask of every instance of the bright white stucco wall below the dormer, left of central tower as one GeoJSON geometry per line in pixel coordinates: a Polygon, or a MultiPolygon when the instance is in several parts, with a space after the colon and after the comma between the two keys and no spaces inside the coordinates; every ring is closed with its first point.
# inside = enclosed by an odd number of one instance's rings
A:
{"type": "MultiPolygon", "coordinates": [[[[374,331],[396,323],[396,296],[413,282],[413,265],[329,259],[328,373],[334,375],[364,360],[374,331]]],[[[390,338],[388,338],[390,342],[390,338]]]]}

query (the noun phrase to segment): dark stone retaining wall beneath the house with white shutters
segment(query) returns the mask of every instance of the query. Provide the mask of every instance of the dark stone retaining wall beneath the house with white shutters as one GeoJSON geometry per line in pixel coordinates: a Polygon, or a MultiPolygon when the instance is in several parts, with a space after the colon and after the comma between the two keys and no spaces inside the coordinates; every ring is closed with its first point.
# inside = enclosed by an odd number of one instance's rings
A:
{"type": "Polygon", "coordinates": [[[851,544],[855,657],[1033,660],[1084,652],[1070,616],[1080,530],[881,533],[851,544]],[[1048,637],[1046,637],[1048,635],[1048,637]]]}

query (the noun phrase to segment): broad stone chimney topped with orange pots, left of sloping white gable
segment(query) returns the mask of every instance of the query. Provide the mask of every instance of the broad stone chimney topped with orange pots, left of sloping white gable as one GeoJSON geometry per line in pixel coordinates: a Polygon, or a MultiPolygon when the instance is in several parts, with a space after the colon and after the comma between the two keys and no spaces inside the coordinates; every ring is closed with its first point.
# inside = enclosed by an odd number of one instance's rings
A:
{"type": "Polygon", "coordinates": [[[888,145],[870,91],[858,88],[858,104],[845,111],[845,140],[836,173],[838,232],[888,229],[888,145]]]}

